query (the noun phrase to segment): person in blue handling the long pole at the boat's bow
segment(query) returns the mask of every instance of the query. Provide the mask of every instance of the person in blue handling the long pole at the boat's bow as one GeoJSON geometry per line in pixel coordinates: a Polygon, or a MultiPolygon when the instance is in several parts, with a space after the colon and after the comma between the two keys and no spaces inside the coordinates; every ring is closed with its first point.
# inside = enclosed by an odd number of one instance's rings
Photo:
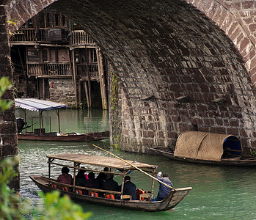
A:
{"type": "MultiPolygon", "coordinates": [[[[172,182],[169,180],[169,175],[167,173],[164,173],[163,177],[161,177],[161,175],[162,175],[162,172],[158,172],[158,175],[156,176],[156,178],[158,180],[161,180],[161,182],[166,183],[167,185],[173,187],[172,182]]],[[[158,195],[155,201],[160,201],[165,199],[168,196],[169,192],[172,190],[172,188],[169,188],[168,186],[164,186],[163,183],[159,183],[160,185],[159,185],[158,195]]]]}

